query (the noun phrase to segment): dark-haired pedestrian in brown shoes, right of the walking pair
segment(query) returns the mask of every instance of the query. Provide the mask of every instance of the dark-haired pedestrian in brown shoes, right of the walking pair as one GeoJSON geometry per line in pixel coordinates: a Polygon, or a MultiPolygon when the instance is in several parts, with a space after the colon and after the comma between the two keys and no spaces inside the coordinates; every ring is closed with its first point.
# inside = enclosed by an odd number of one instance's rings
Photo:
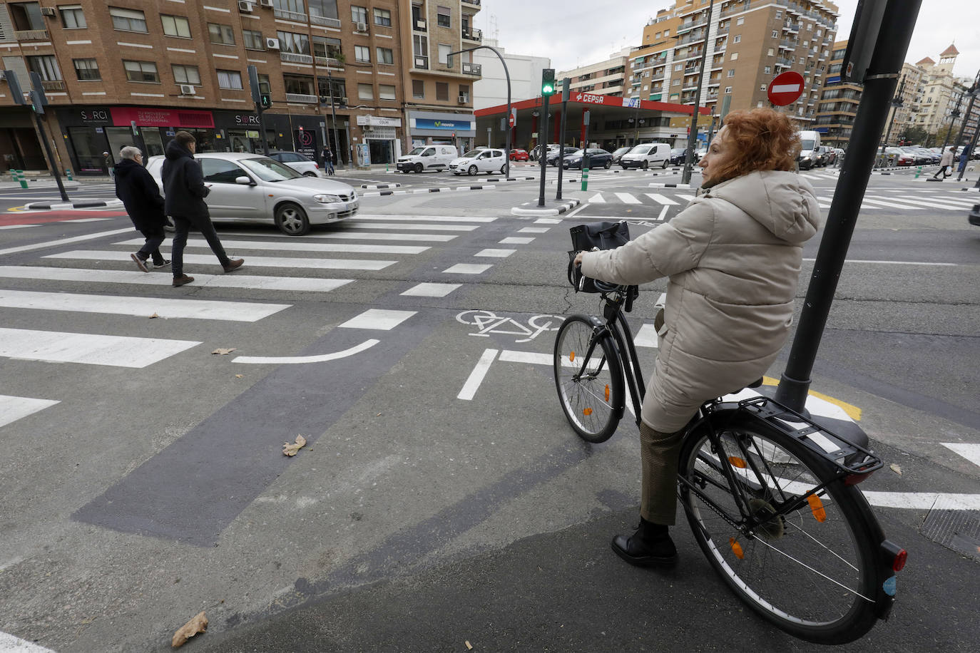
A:
{"type": "Polygon", "coordinates": [[[211,223],[211,213],[204,198],[211,189],[204,184],[201,164],[194,160],[197,140],[186,131],[178,131],[167,144],[164,169],[164,210],[173,219],[173,285],[183,286],[194,280],[183,273],[183,249],[187,245],[187,232],[191,228],[200,231],[221,262],[225,272],[238,269],[244,258],[228,258],[221,246],[221,240],[211,223]]]}

